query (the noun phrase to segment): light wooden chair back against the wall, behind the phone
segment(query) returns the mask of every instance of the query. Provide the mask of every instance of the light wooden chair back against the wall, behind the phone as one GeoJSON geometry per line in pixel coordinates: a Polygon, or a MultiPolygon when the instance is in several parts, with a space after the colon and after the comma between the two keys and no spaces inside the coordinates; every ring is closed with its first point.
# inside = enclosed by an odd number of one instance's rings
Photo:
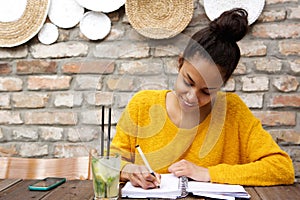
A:
{"type": "Polygon", "coordinates": [[[0,179],[43,179],[65,177],[68,180],[91,179],[90,157],[17,158],[0,157],[0,179]]]}

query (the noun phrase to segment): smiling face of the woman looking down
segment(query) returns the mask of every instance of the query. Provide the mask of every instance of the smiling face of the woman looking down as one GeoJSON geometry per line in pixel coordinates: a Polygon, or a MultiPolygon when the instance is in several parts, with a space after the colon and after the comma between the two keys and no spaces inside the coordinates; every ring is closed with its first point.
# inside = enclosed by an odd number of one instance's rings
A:
{"type": "Polygon", "coordinates": [[[179,64],[175,91],[181,109],[190,112],[211,106],[223,84],[217,66],[198,56],[189,61],[179,58],[179,64]]]}

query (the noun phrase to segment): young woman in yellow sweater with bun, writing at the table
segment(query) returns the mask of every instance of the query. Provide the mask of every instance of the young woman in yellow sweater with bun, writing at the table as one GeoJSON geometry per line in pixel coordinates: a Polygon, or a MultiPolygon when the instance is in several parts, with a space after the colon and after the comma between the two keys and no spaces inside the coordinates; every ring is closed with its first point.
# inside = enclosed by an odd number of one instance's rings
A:
{"type": "Polygon", "coordinates": [[[224,12],[195,33],[179,57],[175,90],[145,90],[124,110],[112,141],[122,155],[121,181],[153,188],[161,173],[196,181],[292,184],[293,164],[234,93],[221,92],[239,59],[247,12],[224,12]],[[156,176],[141,159],[147,157],[156,176]]]}

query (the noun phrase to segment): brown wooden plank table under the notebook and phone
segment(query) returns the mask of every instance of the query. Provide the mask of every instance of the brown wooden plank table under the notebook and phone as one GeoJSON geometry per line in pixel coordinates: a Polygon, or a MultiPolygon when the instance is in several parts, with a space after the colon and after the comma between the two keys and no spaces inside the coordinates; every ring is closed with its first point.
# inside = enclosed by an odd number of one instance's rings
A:
{"type": "MultiPolygon", "coordinates": [[[[1,200],[92,200],[93,186],[91,180],[72,180],[50,191],[29,191],[28,185],[36,180],[0,180],[1,200]]],[[[251,200],[297,200],[300,199],[300,184],[271,187],[245,187],[251,200]]],[[[189,196],[184,199],[201,199],[189,196]]],[[[206,198],[202,198],[206,199],[206,198]]],[[[209,198],[207,198],[209,199],[209,198]]]]}

